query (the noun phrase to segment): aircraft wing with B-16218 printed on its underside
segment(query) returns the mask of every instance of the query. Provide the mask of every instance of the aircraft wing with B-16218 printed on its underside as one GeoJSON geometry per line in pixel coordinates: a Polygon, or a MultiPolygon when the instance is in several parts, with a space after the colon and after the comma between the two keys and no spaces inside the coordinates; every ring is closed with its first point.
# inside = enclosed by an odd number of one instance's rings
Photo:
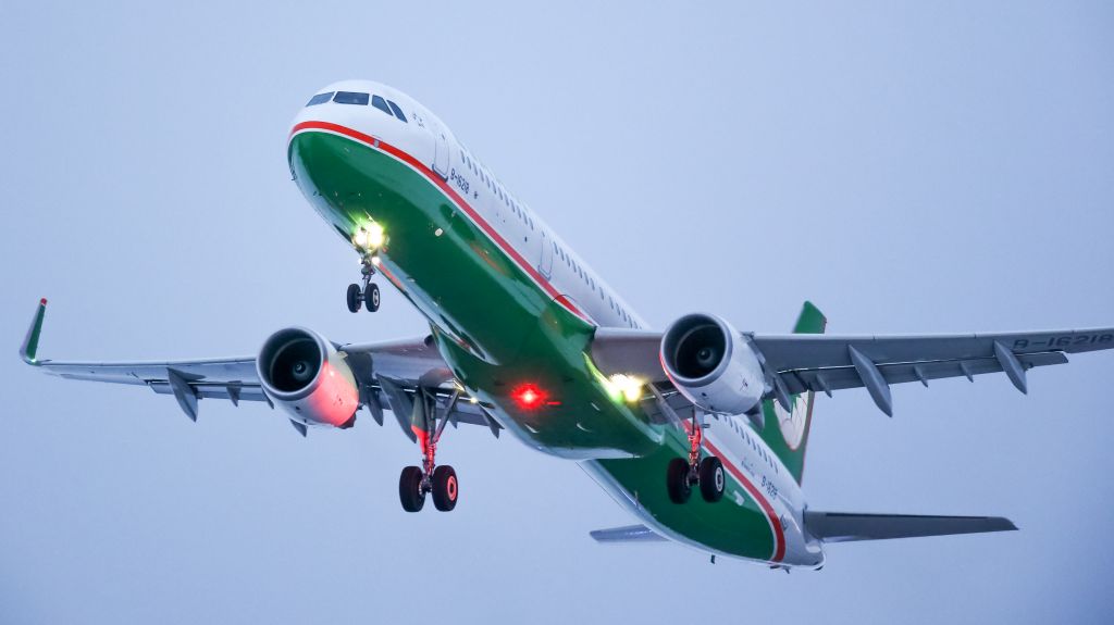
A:
{"type": "MultiPolygon", "coordinates": [[[[1028,391],[1026,371],[1062,365],[1067,354],[1114,348],[1114,328],[1030,333],[836,336],[756,335],[741,333],[764,360],[774,388],[784,396],[866,387],[878,407],[892,416],[889,385],[1004,371],[1022,393],[1028,391]]],[[[600,329],[592,346],[596,366],[605,375],[637,375],[666,381],[658,359],[662,335],[646,330],[600,329]]],[[[779,399],[780,400],[780,399],[779,399]]]]}

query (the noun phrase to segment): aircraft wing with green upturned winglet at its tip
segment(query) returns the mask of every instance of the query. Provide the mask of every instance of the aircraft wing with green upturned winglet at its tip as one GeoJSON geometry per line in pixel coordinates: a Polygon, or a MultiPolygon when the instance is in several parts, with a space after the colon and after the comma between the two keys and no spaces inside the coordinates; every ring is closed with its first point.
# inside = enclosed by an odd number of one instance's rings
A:
{"type": "MultiPolygon", "coordinates": [[[[40,359],[38,347],[46,311],[47,300],[42,299],[20,348],[23,361],[43,373],[68,379],[146,386],[155,393],[173,395],[193,420],[197,420],[199,399],[228,399],[237,406],[240,401],[271,405],[260,385],[255,356],[114,363],[40,359]]],[[[433,393],[448,405],[453,391],[451,376],[447,375],[447,365],[429,337],[338,345],[336,348],[348,355],[346,361],[360,385],[361,405],[380,425],[383,410],[391,410],[402,431],[413,439],[409,424],[412,400],[419,388],[433,393]]],[[[478,404],[456,403],[449,420],[453,426],[458,423],[482,425],[498,436],[499,425],[478,404]]],[[[295,427],[299,425],[295,423],[295,427]]],[[[304,436],[304,426],[297,429],[304,436]]]]}

